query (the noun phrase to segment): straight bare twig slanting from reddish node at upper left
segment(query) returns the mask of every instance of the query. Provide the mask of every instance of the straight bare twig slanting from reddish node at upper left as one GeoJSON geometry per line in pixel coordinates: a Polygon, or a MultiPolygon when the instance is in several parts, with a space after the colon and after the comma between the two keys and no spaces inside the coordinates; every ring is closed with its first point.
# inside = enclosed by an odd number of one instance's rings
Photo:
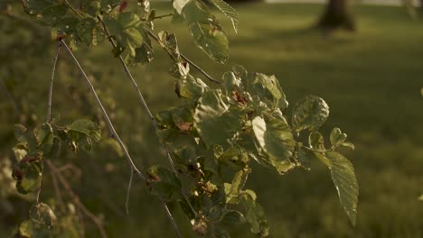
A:
{"type": "Polygon", "coordinates": [[[97,105],[99,105],[99,109],[101,110],[101,113],[103,114],[103,117],[104,117],[106,123],[108,124],[108,129],[110,130],[110,133],[113,135],[115,140],[118,142],[120,149],[124,152],[125,157],[127,158],[129,165],[131,166],[131,169],[133,169],[140,178],[143,178],[144,180],[146,180],[146,177],[144,176],[144,174],[141,173],[141,171],[136,168],[136,165],[134,164],[134,161],[132,160],[131,156],[129,155],[129,152],[127,151],[127,147],[125,146],[124,142],[122,142],[122,140],[120,140],[120,137],[119,137],[118,133],[116,132],[115,127],[113,126],[112,122],[110,121],[110,118],[108,117],[108,113],[106,112],[106,109],[104,108],[103,104],[101,103],[99,96],[96,93],[95,88],[92,86],[91,81],[89,81],[89,78],[88,78],[87,74],[85,73],[84,69],[82,69],[82,67],[80,66],[80,62],[78,61],[78,59],[75,58],[75,55],[73,55],[71,49],[68,47],[66,42],[61,40],[61,43],[65,46],[66,50],[68,50],[69,54],[71,55],[71,58],[73,59],[73,61],[77,65],[78,69],[80,69],[82,76],[85,78],[85,80],[87,82],[89,90],[91,91],[91,93],[96,98],[97,105]]]}

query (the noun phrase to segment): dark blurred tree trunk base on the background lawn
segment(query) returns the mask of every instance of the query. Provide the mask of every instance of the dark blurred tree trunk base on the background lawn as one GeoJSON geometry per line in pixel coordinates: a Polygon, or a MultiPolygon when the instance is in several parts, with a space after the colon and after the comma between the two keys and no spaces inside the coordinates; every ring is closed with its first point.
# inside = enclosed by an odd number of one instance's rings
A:
{"type": "Polygon", "coordinates": [[[348,12],[347,0],[328,1],[324,14],[320,17],[317,26],[328,31],[336,28],[355,31],[355,22],[353,16],[348,12]]]}

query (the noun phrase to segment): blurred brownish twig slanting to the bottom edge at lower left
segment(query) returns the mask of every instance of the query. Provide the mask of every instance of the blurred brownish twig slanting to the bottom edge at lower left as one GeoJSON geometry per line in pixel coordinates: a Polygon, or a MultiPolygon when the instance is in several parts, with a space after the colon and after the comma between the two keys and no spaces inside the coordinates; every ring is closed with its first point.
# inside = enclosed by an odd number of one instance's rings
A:
{"type": "Polygon", "coordinates": [[[68,183],[68,181],[65,178],[63,178],[63,176],[61,175],[61,172],[57,169],[57,167],[50,160],[46,160],[46,163],[49,169],[52,170],[52,173],[54,173],[54,175],[58,178],[59,182],[61,183],[61,186],[63,186],[63,188],[65,188],[65,191],[68,192],[69,196],[72,198],[75,205],[80,207],[80,210],[82,211],[82,213],[86,215],[87,217],[89,217],[89,219],[97,226],[97,229],[99,230],[101,237],[107,238],[108,234],[103,228],[103,222],[101,221],[101,219],[99,219],[99,217],[97,217],[96,215],[92,214],[89,211],[89,209],[83,203],[80,202],[80,197],[78,197],[73,192],[71,185],[68,183]]]}

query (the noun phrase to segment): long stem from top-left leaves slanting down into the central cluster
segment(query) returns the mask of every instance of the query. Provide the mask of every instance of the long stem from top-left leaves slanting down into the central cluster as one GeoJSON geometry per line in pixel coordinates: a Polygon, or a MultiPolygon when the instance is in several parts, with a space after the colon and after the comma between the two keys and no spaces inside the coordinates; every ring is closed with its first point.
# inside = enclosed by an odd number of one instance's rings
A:
{"type": "MultiPolygon", "coordinates": [[[[112,46],[114,48],[116,48],[117,44],[115,43],[115,41],[113,41],[110,32],[108,32],[108,27],[106,26],[106,24],[101,20],[101,17],[97,17],[99,19],[99,22],[102,23],[104,31],[106,32],[106,35],[108,36],[108,41],[110,41],[110,43],[112,44],[112,46]]],[[[148,114],[148,116],[150,117],[151,122],[153,123],[153,125],[155,126],[155,130],[158,130],[158,125],[157,122],[155,121],[155,117],[153,116],[153,114],[150,111],[150,108],[148,107],[148,105],[146,104],[146,100],[144,99],[143,94],[141,93],[138,85],[136,84],[136,80],[132,77],[131,72],[129,71],[129,69],[127,68],[127,64],[125,63],[124,59],[122,59],[121,56],[119,56],[119,60],[120,63],[122,64],[122,67],[125,69],[125,72],[127,73],[127,77],[131,80],[132,85],[136,88],[136,92],[139,96],[139,100],[141,101],[142,105],[144,106],[144,108],[146,109],[146,112],[148,114]]],[[[169,152],[169,149],[164,145],[164,150],[166,151],[167,154],[167,158],[169,159],[169,162],[171,164],[172,169],[174,169],[174,160],[172,160],[172,156],[169,152]]],[[[174,169],[174,175],[179,178],[178,173],[176,171],[176,169],[174,169]]],[[[185,201],[188,203],[188,205],[191,207],[191,209],[193,210],[193,214],[197,215],[197,212],[195,211],[195,209],[193,208],[193,205],[191,204],[189,198],[186,196],[185,192],[183,191],[183,188],[181,188],[182,194],[183,194],[183,198],[185,199],[185,201]]]]}

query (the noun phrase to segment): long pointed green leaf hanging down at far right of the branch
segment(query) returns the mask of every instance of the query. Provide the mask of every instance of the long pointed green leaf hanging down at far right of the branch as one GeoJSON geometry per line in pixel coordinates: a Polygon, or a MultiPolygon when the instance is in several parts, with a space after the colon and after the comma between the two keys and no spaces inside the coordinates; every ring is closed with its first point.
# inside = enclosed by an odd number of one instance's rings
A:
{"type": "Polygon", "coordinates": [[[325,157],[329,161],[329,169],[331,169],[332,180],[334,180],[334,186],[338,191],[341,205],[351,223],[355,225],[359,187],[353,164],[338,152],[326,152],[325,157]]]}

